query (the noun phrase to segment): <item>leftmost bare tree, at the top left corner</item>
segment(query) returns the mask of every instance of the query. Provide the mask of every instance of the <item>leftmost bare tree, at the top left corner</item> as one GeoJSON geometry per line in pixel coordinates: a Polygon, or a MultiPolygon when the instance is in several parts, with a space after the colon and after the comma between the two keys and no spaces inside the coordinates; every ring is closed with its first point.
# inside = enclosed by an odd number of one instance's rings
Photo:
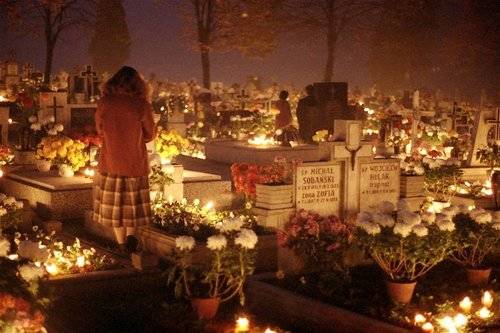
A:
{"type": "Polygon", "coordinates": [[[93,0],[3,0],[15,30],[42,36],[45,40],[44,84],[50,83],[57,41],[70,28],[87,24],[93,17],[93,0]]]}

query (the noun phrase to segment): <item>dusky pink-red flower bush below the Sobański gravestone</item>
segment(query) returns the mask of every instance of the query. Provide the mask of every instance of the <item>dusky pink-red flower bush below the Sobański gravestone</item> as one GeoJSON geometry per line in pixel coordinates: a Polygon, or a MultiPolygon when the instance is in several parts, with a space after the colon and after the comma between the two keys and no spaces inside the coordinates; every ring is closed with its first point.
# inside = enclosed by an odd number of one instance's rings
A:
{"type": "Polygon", "coordinates": [[[322,217],[301,209],[278,233],[278,243],[300,258],[304,270],[347,273],[344,253],[351,244],[352,231],[334,215],[322,217]]]}

